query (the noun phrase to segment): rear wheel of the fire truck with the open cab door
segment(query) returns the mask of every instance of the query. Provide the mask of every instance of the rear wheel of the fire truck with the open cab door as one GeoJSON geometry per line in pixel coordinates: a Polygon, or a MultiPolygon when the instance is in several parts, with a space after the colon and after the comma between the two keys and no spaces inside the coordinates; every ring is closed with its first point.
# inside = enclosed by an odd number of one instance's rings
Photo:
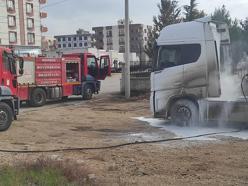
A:
{"type": "Polygon", "coordinates": [[[34,107],[40,107],[45,105],[46,92],[41,88],[34,89],[31,95],[30,104],[34,107]]]}

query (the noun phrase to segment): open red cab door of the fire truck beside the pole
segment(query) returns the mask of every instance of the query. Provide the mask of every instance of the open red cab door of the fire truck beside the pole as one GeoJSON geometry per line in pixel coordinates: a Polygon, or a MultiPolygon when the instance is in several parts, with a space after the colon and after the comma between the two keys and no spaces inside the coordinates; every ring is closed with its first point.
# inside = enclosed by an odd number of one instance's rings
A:
{"type": "Polygon", "coordinates": [[[101,56],[99,61],[99,80],[104,80],[111,75],[110,59],[108,55],[101,56]]]}

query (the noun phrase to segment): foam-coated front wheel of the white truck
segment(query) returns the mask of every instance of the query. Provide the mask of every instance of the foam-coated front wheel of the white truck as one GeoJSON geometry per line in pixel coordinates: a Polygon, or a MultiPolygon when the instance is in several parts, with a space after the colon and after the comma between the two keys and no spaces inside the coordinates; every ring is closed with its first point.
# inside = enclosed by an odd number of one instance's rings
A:
{"type": "Polygon", "coordinates": [[[177,100],[170,109],[172,122],[182,126],[198,125],[199,110],[197,105],[187,99],[177,100]]]}

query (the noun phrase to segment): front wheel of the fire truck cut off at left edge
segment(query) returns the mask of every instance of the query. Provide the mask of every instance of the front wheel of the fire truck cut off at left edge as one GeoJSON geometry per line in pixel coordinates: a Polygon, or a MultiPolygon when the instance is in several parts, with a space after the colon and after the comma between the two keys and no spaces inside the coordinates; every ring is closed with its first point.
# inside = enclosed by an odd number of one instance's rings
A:
{"type": "Polygon", "coordinates": [[[0,102],[0,131],[7,130],[13,121],[13,111],[6,103],[0,102]]]}

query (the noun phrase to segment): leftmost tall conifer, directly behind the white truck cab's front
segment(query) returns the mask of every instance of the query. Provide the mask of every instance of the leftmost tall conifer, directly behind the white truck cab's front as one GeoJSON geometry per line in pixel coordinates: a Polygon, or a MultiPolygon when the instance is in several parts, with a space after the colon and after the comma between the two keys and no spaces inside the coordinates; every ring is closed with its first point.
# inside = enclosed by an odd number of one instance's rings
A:
{"type": "Polygon", "coordinates": [[[161,3],[157,6],[160,14],[153,17],[153,29],[148,33],[148,42],[145,46],[145,52],[150,58],[153,57],[153,45],[159,36],[159,32],[165,26],[179,23],[182,20],[180,18],[181,9],[178,6],[178,1],[161,0],[161,3]]]}

